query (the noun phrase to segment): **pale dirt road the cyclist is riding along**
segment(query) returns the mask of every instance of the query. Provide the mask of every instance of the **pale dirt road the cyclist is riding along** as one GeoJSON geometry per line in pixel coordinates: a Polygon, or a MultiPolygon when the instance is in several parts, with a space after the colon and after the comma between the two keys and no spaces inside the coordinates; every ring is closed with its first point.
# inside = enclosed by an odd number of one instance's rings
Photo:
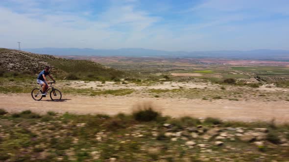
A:
{"type": "Polygon", "coordinates": [[[47,111],[71,112],[77,114],[104,113],[114,115],[120,112],[130,113],[135,105],[151,102],[164,115],[173,117],[192,116],[197,118],[216,117],[235,121],[289,122],[288,101],[204,101],[190,99],[162,99],[140,97],[86,97],[63,96],[63,101],[53,102],[49,98],[43,101],[32,100],[30,94],[0,94],[0,108],[9,112],[30,109],[38,113],[47,111]]]}

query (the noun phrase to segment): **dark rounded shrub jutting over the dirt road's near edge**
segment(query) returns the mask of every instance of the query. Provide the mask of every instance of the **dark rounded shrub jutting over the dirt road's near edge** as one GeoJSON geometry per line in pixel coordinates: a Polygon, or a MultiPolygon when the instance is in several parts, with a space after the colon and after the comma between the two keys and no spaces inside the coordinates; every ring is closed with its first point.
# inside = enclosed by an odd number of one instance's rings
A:
{"type": "Polygon", "coordinates": [[[161,114],[152,107],[138,109],[137,111],[133,112],[133,117],[137,121],[154,121],[157,117],[161,116],[161,114]]]}

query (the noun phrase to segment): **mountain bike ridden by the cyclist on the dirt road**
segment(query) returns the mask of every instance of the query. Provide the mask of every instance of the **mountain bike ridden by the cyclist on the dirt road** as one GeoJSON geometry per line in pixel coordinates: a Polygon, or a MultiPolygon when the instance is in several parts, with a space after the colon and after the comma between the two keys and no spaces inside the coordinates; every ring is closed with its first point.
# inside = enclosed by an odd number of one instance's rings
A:
{"type": "MultiPolygon", "coordinates": [[[[58,89],[53,87],[53,85],[52,85],[53,83],[55,83],[55,81],[50,82],[50,86],[47,89],[47,94],[48,94],[49,90],[51,89],[51,91],[50,91],[50,99],[52,101],[60,101],[61,97],[62,97],[62,94],[61,94],[61,92],[58,89]]],[[[40,101],[44,97],[42,95],[43,94],[43,92],[42,92],[42,86],[43,85],[42,84],[40,84],[40,85],[41,85],[41,88],[34,88],[31,91],[31,96],[36,101],[40,101]]]]}

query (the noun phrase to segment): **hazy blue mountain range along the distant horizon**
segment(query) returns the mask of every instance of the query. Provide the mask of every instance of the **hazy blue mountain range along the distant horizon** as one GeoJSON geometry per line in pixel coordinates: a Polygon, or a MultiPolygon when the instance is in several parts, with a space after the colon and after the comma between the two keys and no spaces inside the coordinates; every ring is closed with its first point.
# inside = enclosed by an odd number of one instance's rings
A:
{"type": "Polygon", "coordinates": [[[226,59],[286,59],[289,50],[251,51],[162,51],[144,48],[92,49],[92,48],[29,48],[24,51],[58,56],[125,56],[171,58],[226,58],[226,59]]]}

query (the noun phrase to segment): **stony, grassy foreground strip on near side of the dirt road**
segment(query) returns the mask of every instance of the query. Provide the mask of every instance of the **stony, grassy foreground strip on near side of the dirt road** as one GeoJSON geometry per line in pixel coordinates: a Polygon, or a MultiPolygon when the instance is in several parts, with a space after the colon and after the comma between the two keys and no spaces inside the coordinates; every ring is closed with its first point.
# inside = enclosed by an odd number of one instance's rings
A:
{"type": "Polygon", "coordinates": [[[289,161],[289,127],[274,122],[173,119],[148,109],[111,117],[0,114],[3,162],[289,161]]]}

